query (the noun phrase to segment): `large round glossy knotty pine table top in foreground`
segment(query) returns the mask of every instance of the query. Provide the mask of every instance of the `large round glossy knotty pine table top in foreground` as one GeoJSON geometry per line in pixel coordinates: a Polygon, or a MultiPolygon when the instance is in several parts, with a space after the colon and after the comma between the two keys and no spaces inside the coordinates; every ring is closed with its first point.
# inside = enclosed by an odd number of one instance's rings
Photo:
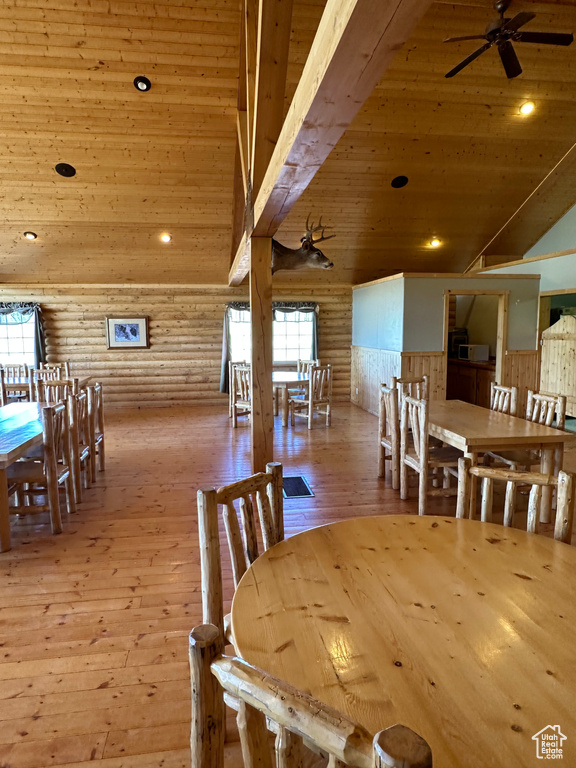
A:
{"type": "Polygon", "coordinates": [[[576,548],[454,518],[314,528],[249,568],[238,653],[376,733],[395,723],[438,768],[534,766],[559,724],[576,764],[576,548]]]}

